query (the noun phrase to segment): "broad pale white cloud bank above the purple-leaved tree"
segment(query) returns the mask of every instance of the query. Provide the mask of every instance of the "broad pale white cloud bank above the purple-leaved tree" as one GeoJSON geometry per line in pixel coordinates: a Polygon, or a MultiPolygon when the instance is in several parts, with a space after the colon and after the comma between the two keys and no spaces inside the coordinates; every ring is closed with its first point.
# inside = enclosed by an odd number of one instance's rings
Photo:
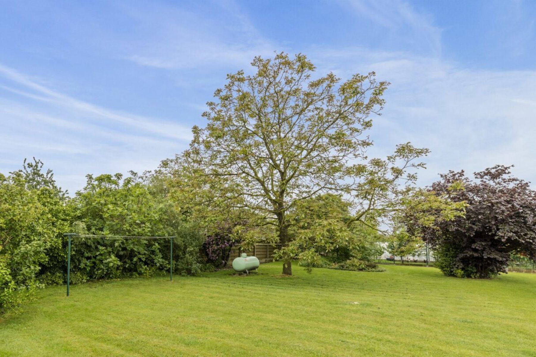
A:
{"type": "Polygon", "coordinates": [[[514,164],[519,177],[536,184],[536,71],[470,70],[436,57],[371,52],[347,48],[311,55],[323,64],[320,72],[334,70],[348,78],[376,71],[391,82],[371,132],[373,153],[386,155],[408,140],[430,148],[423,184],[440,172],[474,172],[495,164],[514,164]]]}

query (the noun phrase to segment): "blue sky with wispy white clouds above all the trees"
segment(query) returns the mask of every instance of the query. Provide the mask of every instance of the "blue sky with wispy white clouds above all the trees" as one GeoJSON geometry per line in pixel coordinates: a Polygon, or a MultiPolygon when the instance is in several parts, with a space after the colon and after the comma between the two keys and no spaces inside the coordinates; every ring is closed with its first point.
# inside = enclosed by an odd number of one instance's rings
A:
{"type": "Polygon", "coordinates": [[[534,1],[0,0],[0,172],[156,168],[188,146],[225,75],[302,52],[319,74],[392,84],[370,132],[432,150],[437,173],[515,164],[536,181],[534,1]]]}

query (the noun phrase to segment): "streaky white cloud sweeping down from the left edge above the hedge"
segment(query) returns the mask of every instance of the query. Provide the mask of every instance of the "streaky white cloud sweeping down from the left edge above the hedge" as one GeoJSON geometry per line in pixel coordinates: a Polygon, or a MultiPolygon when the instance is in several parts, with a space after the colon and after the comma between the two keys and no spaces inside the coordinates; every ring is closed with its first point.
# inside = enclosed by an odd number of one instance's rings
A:
{"type": "Polygon", "coordinates": [[[0,157],[10,158],[2,172],[35,156],[73,192],[87,173],[154,169],[191,139],[183,125],[78,100],[3,65],[0,83],[0,157]]]}

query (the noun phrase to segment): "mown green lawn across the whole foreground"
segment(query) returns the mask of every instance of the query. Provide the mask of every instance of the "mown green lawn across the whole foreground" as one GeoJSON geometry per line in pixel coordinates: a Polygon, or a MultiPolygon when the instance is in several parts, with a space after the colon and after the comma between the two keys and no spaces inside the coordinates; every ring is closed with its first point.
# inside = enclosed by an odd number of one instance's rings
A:
{"type": "Polygon", "coordinates": [[[536,275],[383,267],[51,287],[0,320],[0,355],[536,356],[536,275]]]}

